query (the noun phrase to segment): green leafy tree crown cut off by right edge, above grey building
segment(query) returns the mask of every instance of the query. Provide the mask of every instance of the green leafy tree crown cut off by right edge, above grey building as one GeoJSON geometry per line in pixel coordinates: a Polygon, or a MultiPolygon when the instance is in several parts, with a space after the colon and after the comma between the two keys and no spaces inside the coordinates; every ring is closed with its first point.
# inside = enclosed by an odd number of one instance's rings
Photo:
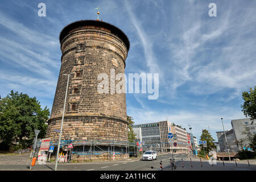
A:
{"type": "Polygon", "coordinates": [[[256,119],[256,86],[254,86],[254,90],[250,88],[249,92],[243,92],[242,97],[244,100],[241,105],[243,114],[250,117],[251,123],[253,123],[253,120],[256,119]]]}

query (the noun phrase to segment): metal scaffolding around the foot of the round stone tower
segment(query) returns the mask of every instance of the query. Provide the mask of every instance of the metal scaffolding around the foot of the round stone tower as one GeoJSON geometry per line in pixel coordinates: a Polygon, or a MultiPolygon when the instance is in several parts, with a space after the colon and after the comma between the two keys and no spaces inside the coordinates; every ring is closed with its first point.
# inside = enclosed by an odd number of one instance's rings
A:
{"type": "MultiPolygon", "coordinates": [[[[60,154],[66,155],[68,162],[76,160],[77,162],[95,161],[95,160],[114,160],[127,159],[129,157],[139,157],[144,151],[154,150],[156,152],[169,152],[167,148],[164,148],[162,143],[141,144],[137,146],[137,142],[119,141],[119,140],[61,140],[60,142],[60,154]],[[73,148],[68,148],[72,143],[73,148]],[[142,151],[139,151],[142,148],[142,151]]],[[[55,146],[49,160],[56,160],[57,142],[51,142],[51,146],[55,146]]],[[[36,145],[36,151],[40,150],[40,140],[36,145]]],[[[48,154],[50,154],[48,152],[48,154]]],[[[47,155],[48,155],[47,154],[47,155]]],[[[59,154],[59,155],[60,155],[59,154]]]]}

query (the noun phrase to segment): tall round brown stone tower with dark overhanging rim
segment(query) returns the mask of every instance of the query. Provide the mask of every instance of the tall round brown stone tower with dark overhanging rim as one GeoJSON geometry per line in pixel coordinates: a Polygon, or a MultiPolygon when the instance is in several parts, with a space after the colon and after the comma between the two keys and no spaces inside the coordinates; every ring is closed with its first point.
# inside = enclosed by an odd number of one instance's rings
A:
{"type": "MultiPolygon", "coordinates": [[[[127,36],[112,24],[99,20],[81,20],[68,24],[60,32],[61,68],[57,82],[47,138],[59,139],[61,117],[69,77],[67,102],[61,140],[115,140],[127,142],[125,93],[98,93],[106,73],[125,72],[130,43],[127,36]]],[[[115,81],[117,84],[118,81],[115,81]]],[[[110,85],[110,83],[109,83],[110,85]]]]}

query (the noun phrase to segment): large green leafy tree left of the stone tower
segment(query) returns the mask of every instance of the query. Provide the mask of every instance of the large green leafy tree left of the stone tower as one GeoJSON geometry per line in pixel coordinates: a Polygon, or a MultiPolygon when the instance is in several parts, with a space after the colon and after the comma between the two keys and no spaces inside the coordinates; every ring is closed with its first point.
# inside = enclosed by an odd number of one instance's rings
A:
{"type": "Polygon", "coordinates": [[[2,98],[0,103],[0,141],[1,149],[9,150],[16,142],[24,148],[32,144],[34,130],[40,130],[38,138],[46,134],[49,109],[41,109],[36,97],[13,92],[2,98]]]}

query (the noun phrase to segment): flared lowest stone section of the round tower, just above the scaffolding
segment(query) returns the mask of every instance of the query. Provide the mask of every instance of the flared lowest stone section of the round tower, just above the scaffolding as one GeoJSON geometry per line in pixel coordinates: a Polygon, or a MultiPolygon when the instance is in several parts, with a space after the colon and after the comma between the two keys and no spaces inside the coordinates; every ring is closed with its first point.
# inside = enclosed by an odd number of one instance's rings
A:
{"type": "MultiPolygon", "coordinates": [[[[46,138],[57,142],[60,133],[61,117],[48,121],[46,138]]],[[[127,142],[127,122],[115,118],[67,115],[64,117],[61,140],[115,140],[127,142]]]]}

